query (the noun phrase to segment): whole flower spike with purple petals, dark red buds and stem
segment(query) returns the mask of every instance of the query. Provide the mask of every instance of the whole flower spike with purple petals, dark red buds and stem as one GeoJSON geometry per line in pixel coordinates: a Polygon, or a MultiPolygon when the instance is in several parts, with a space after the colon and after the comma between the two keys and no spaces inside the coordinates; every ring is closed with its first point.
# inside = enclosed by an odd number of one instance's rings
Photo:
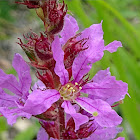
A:
{"type": "Polygon", "coordinates": [[[111,76],[109,68],[92,79],[88,72],[104,51],[117,51],[121,42],[104,45],[102,22],[77,33],[78,24],[66,14],[64,2],[24,0],[21,4],[35,8],[44,22],[44,33],[31,32],[24,35],[26,44],[20,38],[18,43],[39,80],[31,88],[30,67],[15,54],[13,68],[18,80],[0,70],[0,113],[9,125],[18,117],[36,117],[41,124],[38,140],[114,139],[122,131],[118,127],[122,118],[113,109],[114,103],[124,99],[128,86],[111,76]]]}

